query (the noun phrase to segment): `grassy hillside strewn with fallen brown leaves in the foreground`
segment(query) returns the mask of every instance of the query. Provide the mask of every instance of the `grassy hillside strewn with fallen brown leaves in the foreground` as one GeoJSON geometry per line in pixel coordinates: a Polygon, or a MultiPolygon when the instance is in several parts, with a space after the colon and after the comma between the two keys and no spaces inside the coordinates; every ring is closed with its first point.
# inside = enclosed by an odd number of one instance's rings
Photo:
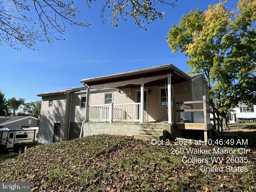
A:
{"type": "Polygon", "coordinates": [[[247,173],[203,173],[200,164],[182,163],[183,155],[170,154],[170,148],[110,135],[40,145],[0,158],[0,181],[31,181],[34,192],[256,190],[255,150],[248,154],[247,173]]]}

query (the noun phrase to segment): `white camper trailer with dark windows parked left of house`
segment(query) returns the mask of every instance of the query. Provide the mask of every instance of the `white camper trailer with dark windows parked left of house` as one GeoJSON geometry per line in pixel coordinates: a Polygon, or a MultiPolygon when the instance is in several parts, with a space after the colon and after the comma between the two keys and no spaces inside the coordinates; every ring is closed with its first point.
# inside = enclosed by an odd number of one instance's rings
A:
{"type": "Polygon", "coordinates": [[[38,127],[0,128],[0,151],[24,151],[38,140],[38,127]]]}

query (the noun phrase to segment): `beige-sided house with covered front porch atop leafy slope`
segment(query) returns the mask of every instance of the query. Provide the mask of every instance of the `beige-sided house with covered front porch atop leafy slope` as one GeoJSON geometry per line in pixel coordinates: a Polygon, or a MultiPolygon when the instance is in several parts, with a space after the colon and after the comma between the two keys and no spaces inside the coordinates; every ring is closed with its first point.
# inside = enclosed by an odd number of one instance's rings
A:
{"type": "Polygon", "coordinates": [[[171,134],[203,140],[216,128],[210,124],[212,111],[202,74],[188,75],[167,64],[80,82],[84,86],[38,94],[38,142],[93,134],[142,139],[171,134]]]}

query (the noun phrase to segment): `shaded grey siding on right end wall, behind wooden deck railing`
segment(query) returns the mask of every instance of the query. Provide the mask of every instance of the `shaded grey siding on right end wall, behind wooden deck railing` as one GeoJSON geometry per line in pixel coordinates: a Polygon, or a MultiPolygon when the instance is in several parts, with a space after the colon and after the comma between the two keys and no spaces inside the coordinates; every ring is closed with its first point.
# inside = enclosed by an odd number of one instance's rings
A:
{"type": "MultiPolygon", "coordinates": [[[[198,101],[203,100],[203,96],[206,96],[206,100],[208,101],[208,93],[206,91],[206,85],[202,79],[202,76],[198,76],[192,79],[192,100],[198,101]]],[[[193,109],[202,109],[203,104],[193,104],[193,109]]],[[[209,106],[207,105],[207,109],[209,106]]],[[[194,123],[203,123],[204,122],[204,114],[203,112],[194,112],[193,113],[194,123]]],[[[207,121],[210,122],[210,116],[208,115],[207,121]]]]}

